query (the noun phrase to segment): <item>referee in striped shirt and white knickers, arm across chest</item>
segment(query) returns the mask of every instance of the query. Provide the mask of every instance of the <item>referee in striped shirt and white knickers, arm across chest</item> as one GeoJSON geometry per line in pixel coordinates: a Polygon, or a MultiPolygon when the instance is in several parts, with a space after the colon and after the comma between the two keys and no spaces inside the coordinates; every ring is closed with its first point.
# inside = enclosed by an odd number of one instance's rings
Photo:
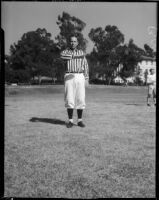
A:
{"type": "Polygon", "coordinates": [[[65,61],[65,107],[69,122],[67,128],[73,124],[73,110],[77,109],[77,125],[85,127],[82,121],[83,109],[85,109],[85,84],[89,79],[88,63],[84,52],[78,48],[78,40],[75,35],[70,37],[69,48],[61,52],[61,59],[65,61]]]}

